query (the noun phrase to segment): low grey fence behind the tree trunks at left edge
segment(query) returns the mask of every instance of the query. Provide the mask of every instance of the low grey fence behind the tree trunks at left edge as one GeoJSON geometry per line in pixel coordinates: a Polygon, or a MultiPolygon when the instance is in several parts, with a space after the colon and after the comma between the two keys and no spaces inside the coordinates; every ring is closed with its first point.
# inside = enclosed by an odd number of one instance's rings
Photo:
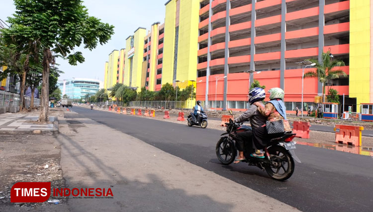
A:
{"type": "MultiPolygon", "coordinates": [[[[25,97],[24,99],[26,108],[29,108],[31,103],[31,97],[25,97]]],[[[19,94],[0,91],[0,107],[19,106],[19,103],[19,94]]],[[[39,99],[34,98],[34,106],[40,106],[39,99]]]]}

